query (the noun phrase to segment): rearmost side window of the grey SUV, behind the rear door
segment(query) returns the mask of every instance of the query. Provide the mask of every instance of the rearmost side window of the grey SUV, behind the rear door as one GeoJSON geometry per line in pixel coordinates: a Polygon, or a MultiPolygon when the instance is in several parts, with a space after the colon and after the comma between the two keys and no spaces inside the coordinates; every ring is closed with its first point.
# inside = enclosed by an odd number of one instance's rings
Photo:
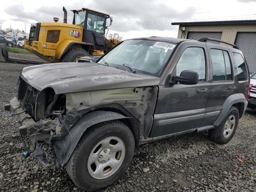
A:
{"type": "Polygon", "coordinates": [[[247,71],[246,71],[246,66],[244,63],[244,59],[242,55],[238,53],[234,53],[234,59],[235,59],[235,64],[236,64],[236,69],[237,69],[237,74],[238,74],[238,81],[245,81],[247,80],[247,71]]]}

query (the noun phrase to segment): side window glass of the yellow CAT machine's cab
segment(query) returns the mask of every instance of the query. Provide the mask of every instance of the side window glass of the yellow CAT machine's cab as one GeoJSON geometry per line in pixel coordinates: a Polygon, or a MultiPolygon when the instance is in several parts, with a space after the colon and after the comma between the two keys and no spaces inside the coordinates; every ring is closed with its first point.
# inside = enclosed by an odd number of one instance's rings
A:
{"type": "Polygon", "coordinates": [[[88,13],[86,30],[105,34],[106,18],[88,13]]]}

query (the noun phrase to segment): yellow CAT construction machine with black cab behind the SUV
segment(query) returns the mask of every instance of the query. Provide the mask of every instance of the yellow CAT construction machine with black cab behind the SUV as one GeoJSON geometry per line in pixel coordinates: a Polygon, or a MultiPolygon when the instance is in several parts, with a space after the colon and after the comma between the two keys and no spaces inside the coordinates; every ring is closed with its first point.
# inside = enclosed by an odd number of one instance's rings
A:
{"type": "Polygon", "coordinates": [[[120,42],[114,37],[111,40],[105,37],[106,20],[110,19],[112,24],[109,14],[88,8],[71,10],[73,22],[68,24],[64,7],[63,11],[63,23],[54,17],[54,22],[31,24],[24,48],[48,62],[75,62],[78,56],[103,55],[120,42]]]}

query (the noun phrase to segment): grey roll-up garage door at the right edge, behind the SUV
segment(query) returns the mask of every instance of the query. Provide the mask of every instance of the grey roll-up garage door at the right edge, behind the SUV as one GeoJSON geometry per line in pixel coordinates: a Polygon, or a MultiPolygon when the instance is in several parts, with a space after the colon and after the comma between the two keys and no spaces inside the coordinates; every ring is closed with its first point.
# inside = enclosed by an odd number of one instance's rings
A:
{"type": "Polygon", "coordinates": [[[243,52],[250,73],[256,72],[256,32],[238,32],[235,44],[243,52]]]}

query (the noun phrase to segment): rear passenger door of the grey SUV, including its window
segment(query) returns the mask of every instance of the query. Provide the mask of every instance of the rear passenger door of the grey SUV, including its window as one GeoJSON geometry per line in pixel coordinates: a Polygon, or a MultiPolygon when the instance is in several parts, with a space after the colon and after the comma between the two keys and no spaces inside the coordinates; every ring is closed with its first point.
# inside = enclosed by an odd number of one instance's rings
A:
{"type": "Polygon", "coordinates": [[[232,94],[236,94],[238,84],[235,79],[232,55],[226,46],[206,43],[210,58],[210,94],[206,105],[206,113],[200,126],[213,124],[222,110],[222,105],[232,94]]]}

